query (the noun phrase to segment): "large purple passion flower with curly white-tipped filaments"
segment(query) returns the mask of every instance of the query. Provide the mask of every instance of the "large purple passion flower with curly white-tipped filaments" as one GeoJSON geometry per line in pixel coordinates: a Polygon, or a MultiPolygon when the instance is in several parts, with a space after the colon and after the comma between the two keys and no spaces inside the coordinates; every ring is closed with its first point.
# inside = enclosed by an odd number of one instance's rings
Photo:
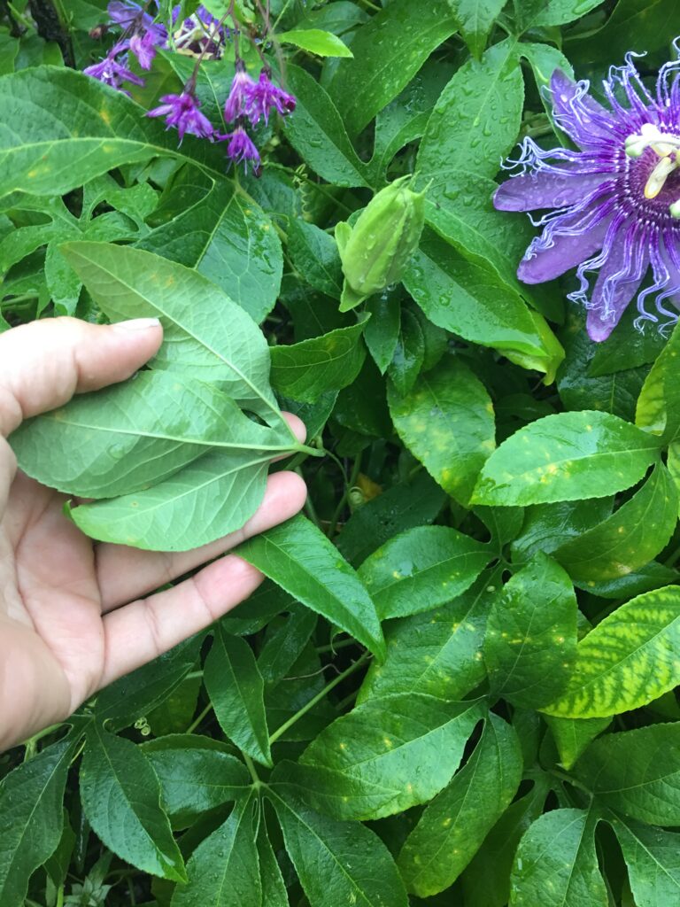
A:
{"type": "Polygon", "coordinates": [[[568,298],[588,308],[595,341],[607,339],[636,294],[637,327],[675,323],[665,302],[680,307],[680,60],[665,63],[649,91],[633,56],[603,82],[608,110],[588,95],[587,81],[553,74],[555,120],[578,151],[546,151],[526,138],[506,165],[520,173],[494,196],[500,210],[551,209],[535,221],[544,229],[518,277],[542,283],[578,265],[580,286],[568,298]],[[638,292],[650,267],[652,280],[638,292]],[[597,274],[593,288],[588,273],[597,274]]]}

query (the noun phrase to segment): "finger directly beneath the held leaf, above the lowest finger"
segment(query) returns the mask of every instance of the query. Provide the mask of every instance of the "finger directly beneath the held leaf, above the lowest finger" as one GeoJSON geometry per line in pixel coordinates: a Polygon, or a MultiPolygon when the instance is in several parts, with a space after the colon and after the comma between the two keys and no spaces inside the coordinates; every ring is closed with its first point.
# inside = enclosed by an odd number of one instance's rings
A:
{"type": "MultiPolygon", "coordinates": [[[[96,551],[102,611],[118,608],[136,596],[158,589],[163,583],[219,557],[241,541],[284,522],[301,510],[305,498],[305,483],[296,473],[274,473],[267,480],[262,503],[248,522],[237,532],[231,532],[209,545],[176,554],[139,551],[124,545],[100,545],[96,551]]],[[[187,629],[185,636],[194,632],[196,630],[187,629]]]]}

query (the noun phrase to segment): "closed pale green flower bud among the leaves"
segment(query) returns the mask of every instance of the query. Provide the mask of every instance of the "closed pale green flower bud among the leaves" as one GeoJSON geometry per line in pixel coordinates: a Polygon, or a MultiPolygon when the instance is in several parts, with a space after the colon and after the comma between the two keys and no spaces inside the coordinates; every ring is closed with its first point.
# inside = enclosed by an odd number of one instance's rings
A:
{"type": "Polygon", "coordinates": [[[341,312],[400,280],[418,249],[426,190],[413,192],[411,180],[411,176],[402,177],[376,193],[354,227],[345,222],[335,227],[345,274],[341,312]]]}

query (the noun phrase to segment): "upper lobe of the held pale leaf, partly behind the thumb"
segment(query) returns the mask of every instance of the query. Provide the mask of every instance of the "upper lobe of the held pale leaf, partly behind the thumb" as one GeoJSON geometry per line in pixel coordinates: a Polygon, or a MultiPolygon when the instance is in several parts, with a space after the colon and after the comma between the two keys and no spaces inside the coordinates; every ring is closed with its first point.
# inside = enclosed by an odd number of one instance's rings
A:
{"type": "Polygon", "coordinates": [[[215,284],[151,252],[108,243],[63,248],[97,305],[112,319],[158,317],[164,343],[151,365],[190,371],[238,403],[277,413],[268,385],[269,350],[251,317],[215,284]],[[197,305],[200,300],[200,305],[197,305]]]}

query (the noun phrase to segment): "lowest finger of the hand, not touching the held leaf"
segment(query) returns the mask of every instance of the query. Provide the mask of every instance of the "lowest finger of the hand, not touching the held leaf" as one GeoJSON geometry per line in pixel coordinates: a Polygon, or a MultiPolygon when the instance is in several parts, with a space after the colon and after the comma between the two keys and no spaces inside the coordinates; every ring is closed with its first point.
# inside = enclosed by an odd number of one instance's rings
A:
{"type": "Polygon", "coordinates": [[[173,589],[106,614],[100,688],[209,627],[262,580],[255,567],[229,554],[173,589]]]}

